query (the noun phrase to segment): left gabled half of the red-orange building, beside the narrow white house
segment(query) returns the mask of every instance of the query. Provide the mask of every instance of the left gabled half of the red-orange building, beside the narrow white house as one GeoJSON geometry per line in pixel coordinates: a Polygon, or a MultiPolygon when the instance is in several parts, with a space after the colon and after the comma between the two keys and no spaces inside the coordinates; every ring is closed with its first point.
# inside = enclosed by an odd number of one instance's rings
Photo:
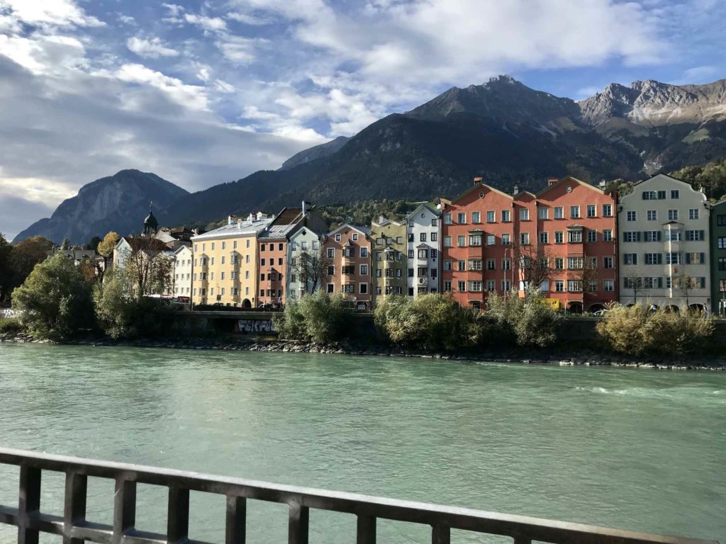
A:
{"type": "Polygon", "coordinates": [[[481,178],[453,200],[441,199],[441,290],[462,306],[485,308],[488,292],[513,287],[513,201],[481,178]]]}

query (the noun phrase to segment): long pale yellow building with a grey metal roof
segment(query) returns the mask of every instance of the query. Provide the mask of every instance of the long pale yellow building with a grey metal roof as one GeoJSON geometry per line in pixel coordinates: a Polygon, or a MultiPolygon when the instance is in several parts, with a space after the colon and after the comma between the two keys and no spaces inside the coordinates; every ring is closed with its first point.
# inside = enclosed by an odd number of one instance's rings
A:
{"type": "Polygon", "coordinates": [[[257,235],[274,216],[250,214],[192,236],[192,302],[254,308],[257,294],[257,235]]]}

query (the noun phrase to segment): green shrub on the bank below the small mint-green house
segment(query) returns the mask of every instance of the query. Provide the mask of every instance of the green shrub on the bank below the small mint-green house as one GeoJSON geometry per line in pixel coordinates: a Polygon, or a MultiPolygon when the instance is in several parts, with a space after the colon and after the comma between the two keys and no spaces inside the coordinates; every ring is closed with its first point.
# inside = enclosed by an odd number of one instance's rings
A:
{"type": "Polygon", "coordinates": [[[318,290],[288,302],[275,324],[285,339],[330,345],[348,337],[352,315],[350,301],[343,294],[330,296],[318,290]]]}

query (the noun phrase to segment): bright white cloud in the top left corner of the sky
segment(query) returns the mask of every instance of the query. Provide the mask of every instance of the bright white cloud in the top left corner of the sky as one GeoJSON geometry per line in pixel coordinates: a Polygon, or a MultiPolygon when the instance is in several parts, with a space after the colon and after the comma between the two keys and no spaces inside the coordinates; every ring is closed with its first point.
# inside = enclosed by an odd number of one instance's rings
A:
{"type": "Polygon", "coordinates": [[[104,22],[86,12],[71,0],[0,0],[0,9],[9,9],[12,16],[28,25],[44,27],[103,26],[104,22]]]}

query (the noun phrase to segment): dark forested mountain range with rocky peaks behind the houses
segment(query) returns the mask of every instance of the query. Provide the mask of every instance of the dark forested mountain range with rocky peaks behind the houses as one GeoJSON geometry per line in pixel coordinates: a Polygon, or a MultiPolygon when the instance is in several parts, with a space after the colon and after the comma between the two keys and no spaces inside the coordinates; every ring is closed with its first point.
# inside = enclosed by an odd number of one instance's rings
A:
{"type": "MultiPolygon", "coordinates": [[[[592,182],[634,180],[725,156],[726,79],[684,86],[650,80],[629,86],[612,83],[603,92],[575,102],[500,75],[482,85],[450,88],[409,112],[372,123],[349,139],[338,138],[300,152],[280,170],[261,170],[229,184],[179,194],[176,201],[134,194],[136,201],[163,202],[158,218],[171,226],[215,221],[259,208],[275,211],[302,199],[349,203],[450,197],[474,176],[484,176],[500,189],[516,184],[533,191],[542,187],[544,178],[568,174],[592,182]]],[[[74,198],[80,198],[86,187],[74,198]]],[[[73,200],[16,240],[29,236],[28,232],[49,232],[57,241],[61,231],[70,232],[69,221],[75,216],[66,209],[73,208],[68,205],[73,200]]],[[[86,205],[93,203],[84,199],[86,205]]],[[[89,234],[104,234],[91,227],[120,220],[116,214],[113,221],[101,223],[101,210],[91,215],[94,223],[73,227],[81,228],[83,240],[89,234]]],[[[136,207],[136,230],[138,215],[136,207]]],[[[114,228],[124,231],[126,224],[114,228]]],[[[80,235],[73,231],[73,236],[65,237],[75,242],[80,235]]]]}

